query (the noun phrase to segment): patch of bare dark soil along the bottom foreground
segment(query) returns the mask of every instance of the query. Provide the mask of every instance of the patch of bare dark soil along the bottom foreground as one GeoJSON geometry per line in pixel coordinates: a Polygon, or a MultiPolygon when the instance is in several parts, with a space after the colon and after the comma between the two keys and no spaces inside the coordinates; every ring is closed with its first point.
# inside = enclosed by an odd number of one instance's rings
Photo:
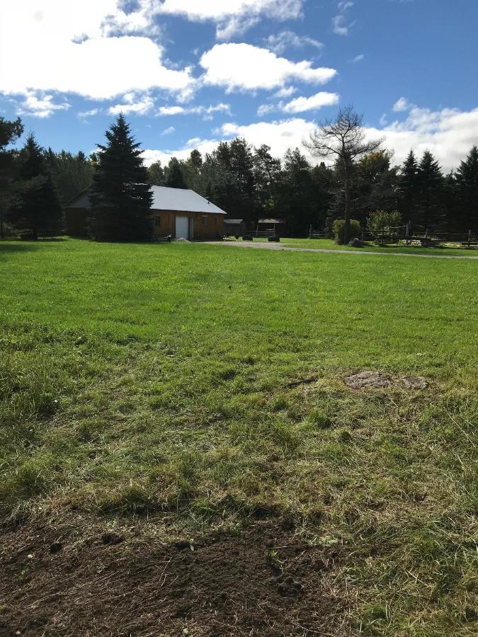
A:
{"type": "Polygon", "coordinates": [[[0,635],[348,634],[338,549],[276,523],[169,546],[104,537],[79,547],[53,529],[4,534],[0,635]]]}

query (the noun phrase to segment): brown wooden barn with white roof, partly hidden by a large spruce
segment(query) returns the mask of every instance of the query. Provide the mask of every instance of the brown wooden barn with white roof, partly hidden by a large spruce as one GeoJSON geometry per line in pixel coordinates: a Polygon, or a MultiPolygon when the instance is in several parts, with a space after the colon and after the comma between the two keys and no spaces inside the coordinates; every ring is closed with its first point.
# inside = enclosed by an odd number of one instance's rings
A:
{"type": "MultiPolygon", "coordinates": [[[[151,216],[154,236],[173,239],[220,239],[226,213],[194,190],[152,186],[151,216]]],[[[67,234],[88,236],[91,205],[84,190],[67,205],[67,234]]]]}

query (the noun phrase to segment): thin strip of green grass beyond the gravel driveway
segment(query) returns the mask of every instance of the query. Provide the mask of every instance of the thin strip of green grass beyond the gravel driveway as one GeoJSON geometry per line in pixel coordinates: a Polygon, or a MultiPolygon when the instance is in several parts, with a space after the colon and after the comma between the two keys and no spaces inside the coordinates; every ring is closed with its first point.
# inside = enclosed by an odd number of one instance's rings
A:
{"type": "MultiPolygon", "coordinates": [[[[234,239],[230,239],[234,241],[234,239]]],[[[240,241],[240,240],[239,240],[240,241]]],[[[264,239],[254,239],[254,241],[263,242],[264,239]]],[[[364,251],[364,252],[386,252],[389,254],[430,254],[435,256],[470,256],[478,258],[478,251],[474,248],[462,248],[459,245],[453,247],[439,248],[414,248],[411,246],[376,246],[372,241],[365,241],[363,248],[351,248],[350,246],[338,246],[333,239],[291,239],[283,237],[280,243],[290,248],[319,248],[322,250],[348,250],[348,251],[364,251]]]]}

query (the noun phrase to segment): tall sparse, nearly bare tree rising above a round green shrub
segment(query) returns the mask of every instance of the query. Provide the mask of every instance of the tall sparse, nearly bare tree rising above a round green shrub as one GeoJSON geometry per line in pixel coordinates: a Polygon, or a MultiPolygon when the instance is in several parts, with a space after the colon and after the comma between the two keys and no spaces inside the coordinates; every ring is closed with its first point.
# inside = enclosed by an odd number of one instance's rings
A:
{"type": "Polygon", "coordinates": [[[358,115],[353,106],[344,106],[335,120],[322,120],[302,144],[312,155],[334,158],[342,168],[343,189],[345,190],[344,240],[348,243],[351,225],[351,181],[353,165],[357,159],[376,151],[383,139],[365,139],[363,115],[358,115]]]}

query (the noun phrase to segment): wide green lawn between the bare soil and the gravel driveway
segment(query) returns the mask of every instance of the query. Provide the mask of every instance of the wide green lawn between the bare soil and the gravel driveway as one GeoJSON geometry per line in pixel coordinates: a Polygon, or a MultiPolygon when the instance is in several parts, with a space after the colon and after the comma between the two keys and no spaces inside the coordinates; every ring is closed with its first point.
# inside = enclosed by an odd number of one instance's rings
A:
{"type": "Polygon", "coordinates": [[[476,261],[60,240],[0,277],[5,522],[287,519],[354,633],[478,634],[476,261]]]}

